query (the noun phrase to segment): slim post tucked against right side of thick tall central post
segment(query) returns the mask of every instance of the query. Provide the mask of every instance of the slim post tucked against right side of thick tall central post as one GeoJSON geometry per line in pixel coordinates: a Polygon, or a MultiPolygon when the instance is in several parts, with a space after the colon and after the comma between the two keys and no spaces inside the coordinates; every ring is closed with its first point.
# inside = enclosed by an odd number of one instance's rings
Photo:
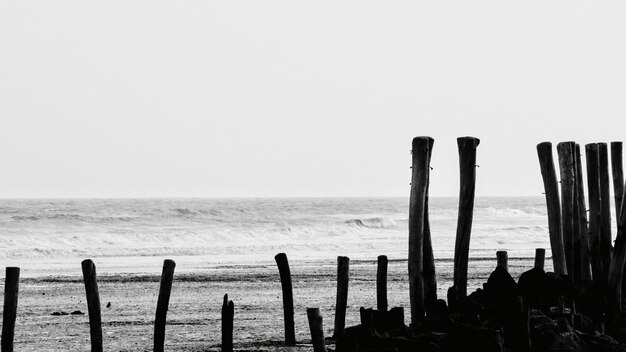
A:
{"type": "Polygon", "coordinates": [[[437,302],[437,274],[435,272],[435,256],[433,254],[433,244],[430,237],[430,220],[428,218],[428,190],[430,188],[430,158],[433,152],[434,139],[428,139],[428,168],[426,169],[426,196],[424,198],[424,305],[426,310],[437,302]]]}

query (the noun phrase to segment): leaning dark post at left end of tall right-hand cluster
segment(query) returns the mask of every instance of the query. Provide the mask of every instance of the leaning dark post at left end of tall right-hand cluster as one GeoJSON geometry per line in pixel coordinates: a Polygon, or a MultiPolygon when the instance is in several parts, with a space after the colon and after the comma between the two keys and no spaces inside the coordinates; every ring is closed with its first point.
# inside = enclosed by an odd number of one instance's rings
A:
{"type": "Polygon", "coordinates": [[[537,144],[539,166],[546,193],[548,208],[548,228],[550,232],[550,248],[552,249],[552,264],[557,274],[567,274],[565,263],[565,249],[563,248],[563,234],[561,232],[561,201],[552,157],[552,143],[537,144]]]}

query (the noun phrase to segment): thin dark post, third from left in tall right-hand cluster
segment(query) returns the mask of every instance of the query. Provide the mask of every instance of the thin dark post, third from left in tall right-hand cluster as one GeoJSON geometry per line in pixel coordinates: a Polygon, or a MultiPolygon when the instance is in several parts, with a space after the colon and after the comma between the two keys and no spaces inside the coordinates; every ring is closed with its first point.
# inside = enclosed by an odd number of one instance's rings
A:
{"type": "Polygon", "coordinates": [[[576,144],[576,219],[578,220],[578,242],[574,239],[574,247],[580,263],[580,279],[591,280],[591,256],[589,253],[589,235],[587,227],[587,205],[585,202],[585,185],[583,182],[583,164],[581,160],[580,145],[576,144]]]}

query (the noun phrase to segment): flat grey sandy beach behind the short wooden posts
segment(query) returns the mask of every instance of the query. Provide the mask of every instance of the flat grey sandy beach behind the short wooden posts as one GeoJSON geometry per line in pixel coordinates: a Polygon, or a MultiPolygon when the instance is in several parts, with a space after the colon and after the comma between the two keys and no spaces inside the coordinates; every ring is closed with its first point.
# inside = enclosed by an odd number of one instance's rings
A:
{"type": "MultiPolygon", "coordinates": [[[[509,261],[514,278],[532,267],[531,259],[509,261]]],[[[296,338],[298,346],[283,341],[282,296],[275,265],[227,265],[201,273],[175,274],[165,349],[169,351],[217,351],[220,349],[220,310],[223,295],[235,304],[235,350],[311,350],[307,307],[319,307],[326,336],[332,335],[336,299],[334,261],[294,261],[291,264],[296,338]]],[[[495,267],[493,260],[470,262],[471,289],[480,287],[495,267]]],[[[549,260],[547,261],[549,264],[549,260]]],[[[79,263],[77,264],[79,265],[79,263]]],[[[96,262],[97,265],[97,262],[96,262]]],[[[408,307],[405,260],[389,263],[389,305],[408,307]]],[[[546,268],[549,269],[549,268],[546,268]]],[[[445,298],[451,285],[452,262],[437,262],[438,294],[445,298]]],[[[350,263],[347,326],[358,324],[359,307],[376,305],[376,262],[350,263]]],[[[104,349],[152,350],[153,323],[159,290],[158,275],[103,274],[98,276],[104,349]],[[107,304],[110,302],[110,307],[107,304]]],[[[52,315],[54,312],[87,313],[80,276],[44,276],[22,279],[15,346],[20,351],[88,351],[89,324],[84,315],[52,315]]],[[[408,310],[405,311],[408,323],[408,310]]]]}

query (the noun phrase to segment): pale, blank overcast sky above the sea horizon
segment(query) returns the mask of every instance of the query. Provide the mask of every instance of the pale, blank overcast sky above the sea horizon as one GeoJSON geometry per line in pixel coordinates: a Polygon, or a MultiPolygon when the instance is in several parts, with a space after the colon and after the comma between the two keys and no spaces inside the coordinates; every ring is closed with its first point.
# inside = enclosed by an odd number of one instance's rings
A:
{"type": "Polygon", "coordinates": [[[541,196],[622,141],[623,1],[0,0],[0,198],[541,196]]]}

